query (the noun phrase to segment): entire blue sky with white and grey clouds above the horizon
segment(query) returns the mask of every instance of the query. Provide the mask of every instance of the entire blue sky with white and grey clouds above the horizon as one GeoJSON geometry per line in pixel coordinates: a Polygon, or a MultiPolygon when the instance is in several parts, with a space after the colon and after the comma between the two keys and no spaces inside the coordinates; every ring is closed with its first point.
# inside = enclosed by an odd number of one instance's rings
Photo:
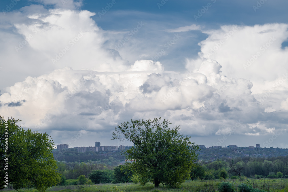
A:
{"type": "Polygon", "coordinates": [[[69,147],[161,117],[206,147],[288,148],[287,6],[2,0],[0,115],[69,147]]]}

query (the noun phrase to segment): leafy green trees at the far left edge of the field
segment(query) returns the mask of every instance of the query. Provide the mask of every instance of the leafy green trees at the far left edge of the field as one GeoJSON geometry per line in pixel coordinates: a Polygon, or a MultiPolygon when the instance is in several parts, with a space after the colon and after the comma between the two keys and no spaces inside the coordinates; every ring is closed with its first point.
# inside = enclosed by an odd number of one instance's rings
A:
{"type": "Polygon", "coordinates": [[[56,172],[57,164],[51,153],[54,142],[46,133],[24,130],[17,125],[19,120],[0,116],[0,189],[4,188],[4,174],[8,172],[9,183],[14,189],[34,187],[39,191],[58,184],[60,174],[56,172]],[[5,133],[6,132],[6,133],[5,133]],[[5,143],[5,134],[8,132],[8,144],[5,143]],[[8,148],[9,168],[4,170],[5,147],[8,148]]]}

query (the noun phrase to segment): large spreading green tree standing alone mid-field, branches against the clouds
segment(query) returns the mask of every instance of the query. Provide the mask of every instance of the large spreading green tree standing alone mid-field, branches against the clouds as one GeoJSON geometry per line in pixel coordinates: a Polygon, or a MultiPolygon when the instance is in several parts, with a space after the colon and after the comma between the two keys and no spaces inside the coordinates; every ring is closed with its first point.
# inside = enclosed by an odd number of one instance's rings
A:
{"type": "Polygon", "coordinates": [[[115,128],[112,140],[134,143],[123,153],[133,160],[129,167],[140,175],[142,184],[151,181],[155,187],[160,183],[179,187],[190,176],[198,145],[179,134],[180,126],[169,128],[170,121],[160,120],[161,117],[121,123],[115,128]]]}

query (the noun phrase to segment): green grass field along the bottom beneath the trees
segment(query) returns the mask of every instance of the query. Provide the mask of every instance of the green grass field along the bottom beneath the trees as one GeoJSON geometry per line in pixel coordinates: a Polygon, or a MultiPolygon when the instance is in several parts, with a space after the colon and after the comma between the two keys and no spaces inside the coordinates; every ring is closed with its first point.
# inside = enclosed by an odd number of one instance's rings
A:
{"type": "MultiPolygon", "coordinates": [[[[288,192],[288,179],[245,179],[243,181],[227,179],[226,182],[232,183],[236,188],[240,183],[246,183],[253,186],[253,188],[263,189],[271,192],[288,192]],[[287,185],[287,186],[286,186],[287,185]]],[[[103,191],[103,192],[122,192],[122,191],[207,191],[213,192],[218,191],[219,183],[223,180],[187,180],[183,185],[178,189],[172,189],[166,185],[160,185],[158,188],[154,188],[152,183],[147,183],[145,186],[134,184],[134,183],[124,183],[124,184],[95,184],[95,185],[70,185],[70,186],[55,186],[50,187],[47,191],[103,191]]],[[[25,189],[21,190],[22,192],[36,192],[35,189],[25,189]]]]}

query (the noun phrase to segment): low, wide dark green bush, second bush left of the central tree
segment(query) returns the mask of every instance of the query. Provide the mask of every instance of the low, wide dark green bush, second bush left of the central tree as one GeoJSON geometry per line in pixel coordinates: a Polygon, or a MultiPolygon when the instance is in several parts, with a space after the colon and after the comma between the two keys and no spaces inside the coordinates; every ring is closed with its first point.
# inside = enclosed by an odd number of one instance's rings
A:
{"type": "Polygon", "coordinates": [[[114,173],[112,170],[105,169],[101,170],[93,170],[90,175],[89,179],[92,183],[111,183],[114,179],[114,173]]]}

